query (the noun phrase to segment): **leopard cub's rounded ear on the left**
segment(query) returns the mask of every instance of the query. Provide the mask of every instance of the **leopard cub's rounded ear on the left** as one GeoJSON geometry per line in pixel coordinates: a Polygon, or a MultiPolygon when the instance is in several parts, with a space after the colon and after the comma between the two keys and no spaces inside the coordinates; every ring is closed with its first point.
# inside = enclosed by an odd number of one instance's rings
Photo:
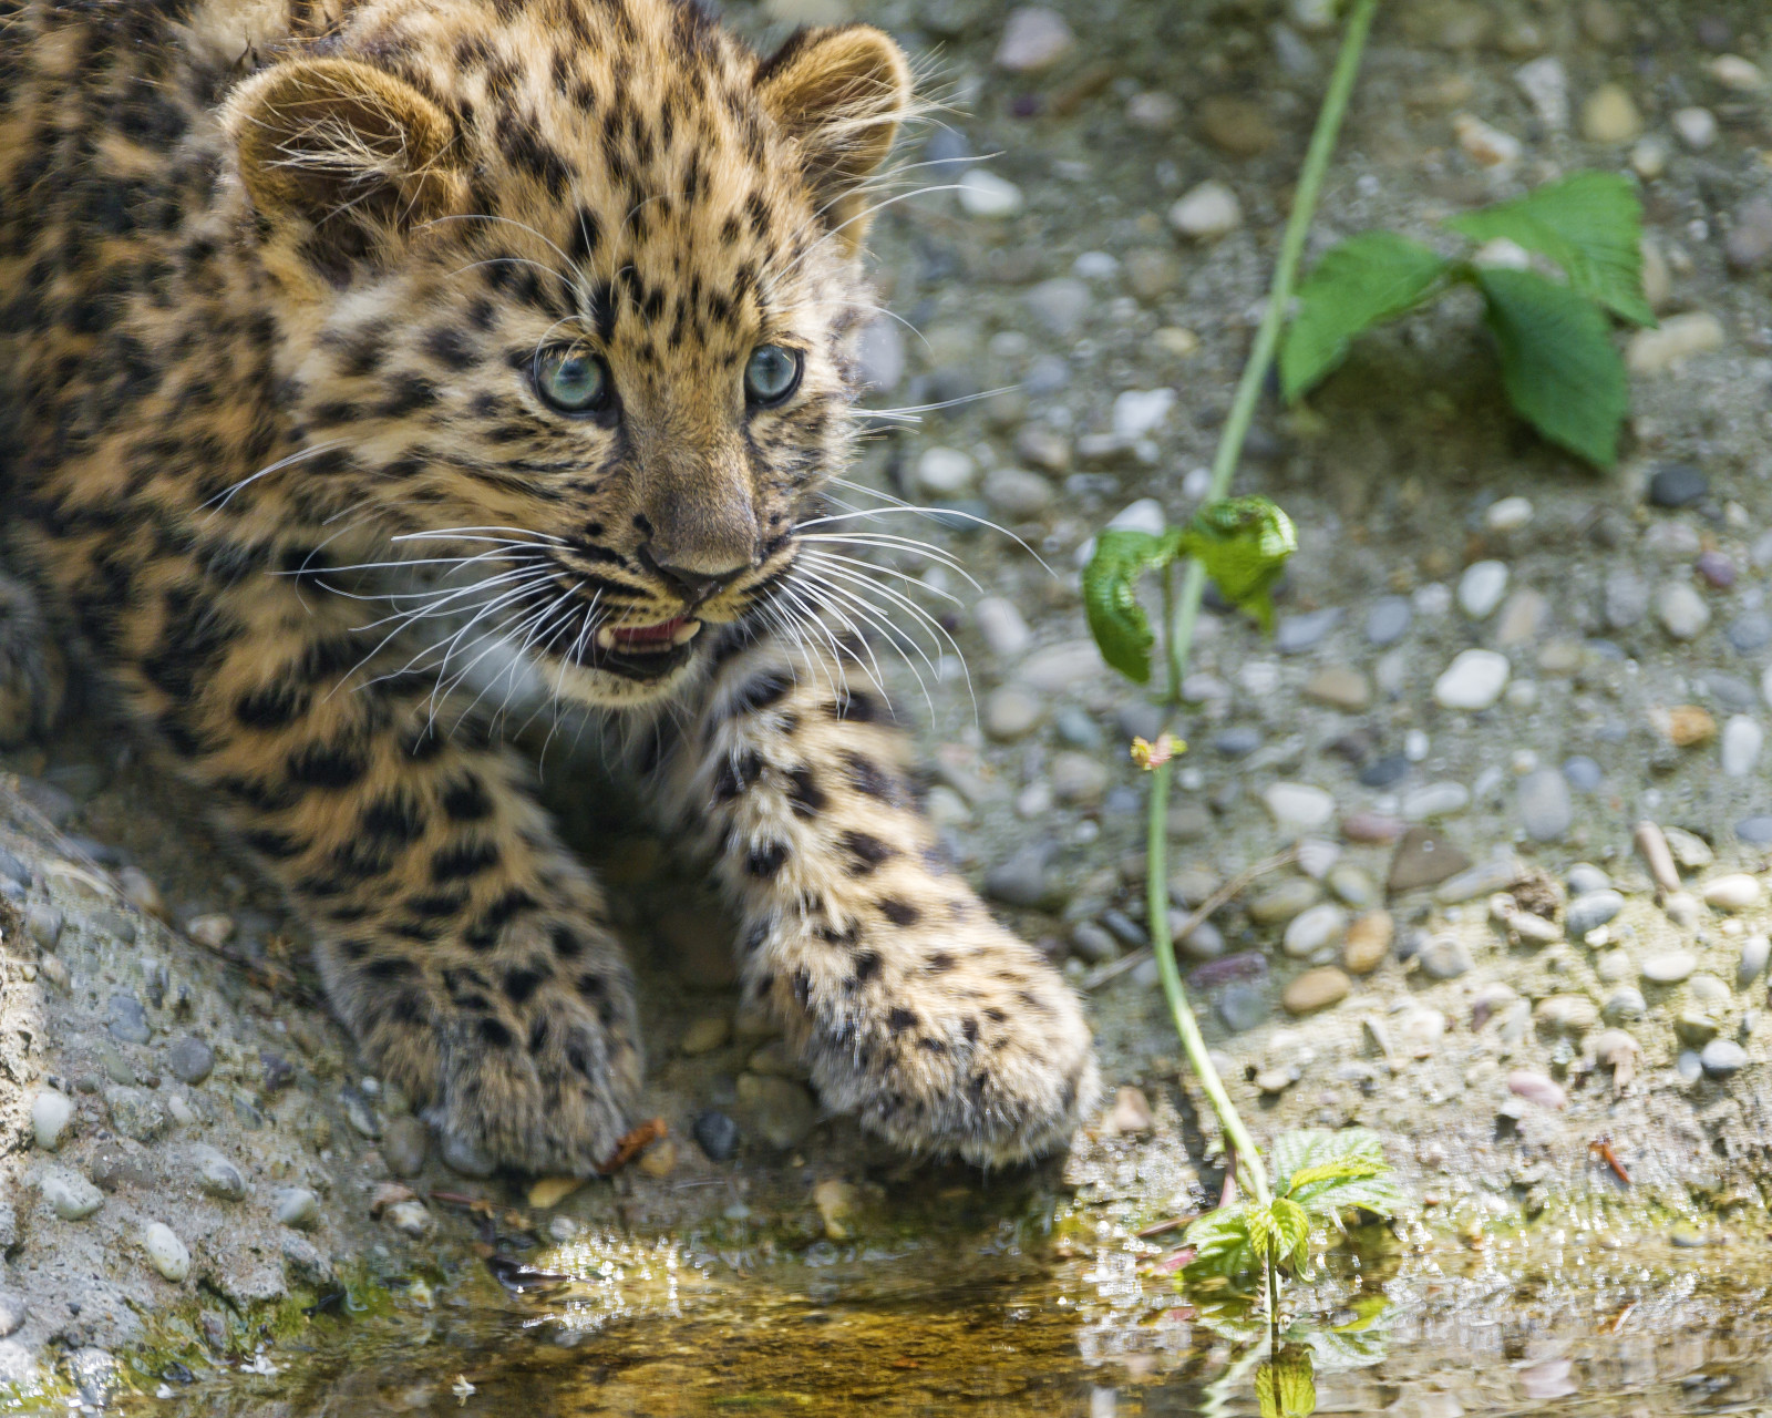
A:
{"type": "Polygon", "coordinates": [[[448,113],[369,64],[278,64],[234,90],[225,122],[259,214],[310,223],[335,259],[385,250],[464,206],[448,113]]]}

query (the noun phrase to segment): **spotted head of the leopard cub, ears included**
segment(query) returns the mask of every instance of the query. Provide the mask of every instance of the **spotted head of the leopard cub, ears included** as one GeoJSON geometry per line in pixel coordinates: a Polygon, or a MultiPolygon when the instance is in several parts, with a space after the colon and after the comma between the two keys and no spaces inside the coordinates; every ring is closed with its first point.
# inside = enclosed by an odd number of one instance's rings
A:
{"type": "Polygon", "coordinates": [[[675,0],[351,12],[225,110],[321,450],[280,475],[464,564],[455,604],[565,697],[670,693],[703,626],[796,596],[909,105],[863,25],[762,60],[675,0]]]}

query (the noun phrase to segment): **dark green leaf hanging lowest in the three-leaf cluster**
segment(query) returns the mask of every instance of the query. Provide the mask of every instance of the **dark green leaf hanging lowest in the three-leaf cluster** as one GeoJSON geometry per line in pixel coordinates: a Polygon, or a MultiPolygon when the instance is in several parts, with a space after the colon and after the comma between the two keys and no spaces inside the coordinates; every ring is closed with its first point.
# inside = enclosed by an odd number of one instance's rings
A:
{"type": "Polygon", "coordinates": [[[1605,316],[1533,271],[1478,269],[1476,284],[1513,408],[1552,443],[1611,468],[1630,386],[1605,316]]]}

